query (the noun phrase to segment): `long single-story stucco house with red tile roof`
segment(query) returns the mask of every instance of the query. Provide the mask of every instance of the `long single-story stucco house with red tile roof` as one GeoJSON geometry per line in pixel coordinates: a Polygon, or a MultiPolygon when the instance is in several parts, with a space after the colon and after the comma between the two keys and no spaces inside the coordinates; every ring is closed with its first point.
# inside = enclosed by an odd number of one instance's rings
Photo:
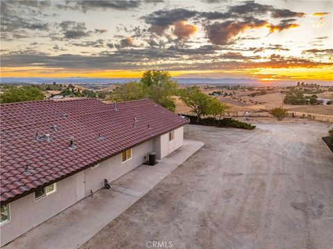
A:
{"type": "Polygon", "coordinates": [[[147,160],[182,146],[187,119],[149,100],[1,105],[1,246],[147,160]]]}

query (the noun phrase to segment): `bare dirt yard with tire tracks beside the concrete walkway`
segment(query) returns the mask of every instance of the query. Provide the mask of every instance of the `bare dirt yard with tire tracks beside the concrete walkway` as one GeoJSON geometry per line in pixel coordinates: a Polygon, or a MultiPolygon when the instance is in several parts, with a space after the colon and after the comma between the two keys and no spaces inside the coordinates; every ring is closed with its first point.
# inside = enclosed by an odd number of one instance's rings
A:
{"type": "Polygon", "coordinates": [[[333,248],[326,124],[255,123],[190,126],[205,146],[82,248],[333,248]]]}

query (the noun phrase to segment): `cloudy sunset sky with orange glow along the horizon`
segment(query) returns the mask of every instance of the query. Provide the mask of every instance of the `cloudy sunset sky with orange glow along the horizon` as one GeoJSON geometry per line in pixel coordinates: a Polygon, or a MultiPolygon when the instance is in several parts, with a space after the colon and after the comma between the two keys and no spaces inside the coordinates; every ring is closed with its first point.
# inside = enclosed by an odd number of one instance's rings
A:
{"type": "Polygon", "coordinates": [[[1,77],[333,80],[333,1],[1,1],[1,77]]]}

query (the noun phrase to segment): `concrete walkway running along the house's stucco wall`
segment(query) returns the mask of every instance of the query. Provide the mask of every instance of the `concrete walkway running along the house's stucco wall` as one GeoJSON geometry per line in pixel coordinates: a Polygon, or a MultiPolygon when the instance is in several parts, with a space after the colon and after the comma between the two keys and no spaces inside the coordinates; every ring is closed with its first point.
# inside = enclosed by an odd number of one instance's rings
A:
{"type": "Polygon", "coordinates": [[[78,248],[105,225],[128,209],[187,158],[198,151],[201,141],[184,140],[181,148],[155,166],[142,165],[65,211],[26,232],[3,248],[78,248]]]}

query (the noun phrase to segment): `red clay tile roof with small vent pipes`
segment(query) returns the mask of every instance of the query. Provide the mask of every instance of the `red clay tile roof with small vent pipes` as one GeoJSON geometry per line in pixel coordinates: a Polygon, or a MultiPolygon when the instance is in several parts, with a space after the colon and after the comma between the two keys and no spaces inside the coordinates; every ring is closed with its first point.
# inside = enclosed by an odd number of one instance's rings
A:
{"type": "Polygon", "coordinates": [[[187,123],[147,99],[117,103],[117,110],[94,98],[10,103],[0,110],[1,203],[187,123]]]}

